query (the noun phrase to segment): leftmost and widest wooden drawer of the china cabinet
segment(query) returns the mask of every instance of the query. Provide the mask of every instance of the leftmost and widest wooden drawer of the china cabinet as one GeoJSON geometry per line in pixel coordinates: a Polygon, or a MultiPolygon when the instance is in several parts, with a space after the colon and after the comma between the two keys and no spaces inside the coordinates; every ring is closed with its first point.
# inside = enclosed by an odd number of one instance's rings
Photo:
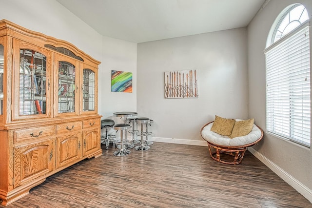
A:
{"type": "Polygon", "coordinates": [[[40,138],[45,136],[54,135],[54,126],[43,126],[38,128],[29,128],[24,130],[18,130],[14,132],[14,138],[16,142],[21,142],[27,139],[40,138]]]}

